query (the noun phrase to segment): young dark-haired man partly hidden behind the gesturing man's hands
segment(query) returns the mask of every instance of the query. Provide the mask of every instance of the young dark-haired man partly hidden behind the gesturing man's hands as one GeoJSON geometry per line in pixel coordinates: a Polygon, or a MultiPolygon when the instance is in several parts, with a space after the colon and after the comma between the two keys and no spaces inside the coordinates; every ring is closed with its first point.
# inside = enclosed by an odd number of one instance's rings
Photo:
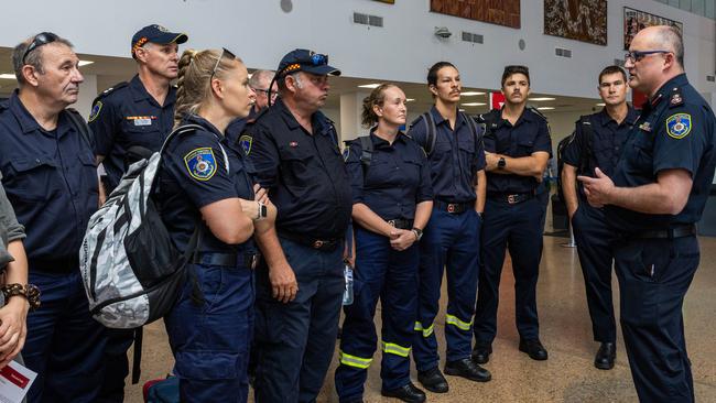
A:
{"type": "Polygon", "coordinates": [[[617,357],[617,324],[611,302],[611,231],[604,211],[586,203],[577,189],[577,175],[594,176],[599,167],[612,176],[638,112],[627,105],[627,73],[608,66],[599,73],[597,87],[605,104],[601,111],[582,117],[562,152],[562,188],[579,253],[587,305],[595,341],[600,344],[594,366],[608,370],[617,357]]]}

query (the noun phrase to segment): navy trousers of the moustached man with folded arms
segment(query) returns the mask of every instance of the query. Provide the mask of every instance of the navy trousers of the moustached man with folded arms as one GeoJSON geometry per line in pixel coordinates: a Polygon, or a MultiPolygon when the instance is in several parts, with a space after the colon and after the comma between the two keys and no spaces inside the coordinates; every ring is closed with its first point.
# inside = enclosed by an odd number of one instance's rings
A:
{"type": "Polygon", "coordinates": [[[514,314],[520,338],[540,337],[536,282],[542,257],[542,204],[531,198],[519,204],[488,196],[482,221],[482,262],[475,311],[475,339],[489,345],[497,335],[497,306],[505,252],[514,274],[514,314]]]}

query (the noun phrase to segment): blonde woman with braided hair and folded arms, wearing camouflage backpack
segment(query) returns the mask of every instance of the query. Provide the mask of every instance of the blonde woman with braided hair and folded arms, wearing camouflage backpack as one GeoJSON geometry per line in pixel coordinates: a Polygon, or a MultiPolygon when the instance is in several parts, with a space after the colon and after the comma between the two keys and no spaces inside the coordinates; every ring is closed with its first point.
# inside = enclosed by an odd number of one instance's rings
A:
{"type": "Polygon", "coordinates": [[[252,236],[272,228],[275,208],[224,132],[249,115],[254,94],[246,66],[226,50],[187,50],[178,67],[175,127],[194,127],[165,145],[155,200],[177,249],[197,243],[181,296],[164,317],[180,400],[246,402],[258,258],[252,236]]]}

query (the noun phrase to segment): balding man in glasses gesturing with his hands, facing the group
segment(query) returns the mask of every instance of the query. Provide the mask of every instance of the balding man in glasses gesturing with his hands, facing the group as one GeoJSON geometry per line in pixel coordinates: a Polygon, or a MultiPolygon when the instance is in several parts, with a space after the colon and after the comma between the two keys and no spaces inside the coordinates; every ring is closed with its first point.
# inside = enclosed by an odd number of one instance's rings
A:
{"type": "Polygon", "coordinates": [[[695,224],[716,168],[716,118],[688,84],[673,26],[631,41],[629,86],[649,98],[608,176],[578,176],[588,203],[615,231],[621,331],[641,402],[694,402],[684,296],[698,268],[695,224]]]}

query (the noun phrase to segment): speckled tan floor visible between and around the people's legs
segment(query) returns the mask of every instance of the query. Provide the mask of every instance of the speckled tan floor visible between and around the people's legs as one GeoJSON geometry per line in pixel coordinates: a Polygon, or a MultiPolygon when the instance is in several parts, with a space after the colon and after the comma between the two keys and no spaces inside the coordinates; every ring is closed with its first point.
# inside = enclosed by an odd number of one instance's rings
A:
{"type": "MultiPolygon", "coordinates": [[[[562,247],[565,238],[544,238],[538,304],[541,339],[550,352],[547,361],[533,361],[517,349],[513,277],[506,262],[500,292],[498,338],[486,366],[492,381],[474,383],[448,377],[447,394],[428,393],[428,402],[634,402],[623,344],[619,340],[617,364],[610,371],[597,370],[592,361],[597,344],[592,341],[584,282],[576,251],[562,247]]],[[[686,338],[693,364],[696,400],[716,402],[716,238],[701,239],[702,260],[684,304],[686,338]]],[[[614,287],[617,290],[616,276],[614,287]]],[[[618,298],[615,293],[615,305],[618,298]]],[[[445,301],[435,326],[443,339],[445,301]]],[[[161,323],[148,326],[144,334],[142,381],[160,378],[172,368],[172,356],[161,323]]],[[[619,337],[621,336],[619,331],[619,337]]],[[[130,351],[131,352],[131,351],[130,351]]],[[[379,355],[379,352],[377,353],[379,355]]],[[[131,357],[131,355],[130,355],[131,357]]],[[[366,384],[366,402],[391,402],[380,396],[380,359],[373,360],[366,384]]],[[[318,402],[337,402],[333,373],[326,377],[318,402]]],[[[413,373],[413,381],[415,374],[413,373]]],[[[128,402],[141,402],[141,388],[127,388],[128,402]]],[[[397,401],[395,401],[397,402],[397,401]]]]}

